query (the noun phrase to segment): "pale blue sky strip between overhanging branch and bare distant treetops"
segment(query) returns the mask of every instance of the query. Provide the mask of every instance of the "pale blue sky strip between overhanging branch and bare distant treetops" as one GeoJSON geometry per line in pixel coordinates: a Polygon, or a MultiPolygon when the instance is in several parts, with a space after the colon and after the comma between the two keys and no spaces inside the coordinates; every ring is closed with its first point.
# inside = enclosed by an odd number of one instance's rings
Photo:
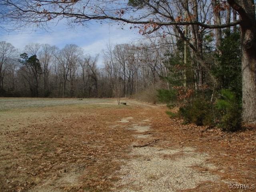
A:
{"type": "MultiPolygon", "coordinates": [[[[26,27],[20,30],[6,32],[0,29],[0,41],[6,41],[22,52],[29,43],[55,45],[64,48],[66,44],[77,44],[84,49],[84,54],[96,56],[106,48],[108,43],[113,45],[138,41],[142,36],[138,30],[126,26],[124,30],[117,24],[92,22],[88,26],[70,28],[64,22],[51,24],[48,30],[26,27]]],[[[103,66],[102,56],[98,66],[103,66]]]]}

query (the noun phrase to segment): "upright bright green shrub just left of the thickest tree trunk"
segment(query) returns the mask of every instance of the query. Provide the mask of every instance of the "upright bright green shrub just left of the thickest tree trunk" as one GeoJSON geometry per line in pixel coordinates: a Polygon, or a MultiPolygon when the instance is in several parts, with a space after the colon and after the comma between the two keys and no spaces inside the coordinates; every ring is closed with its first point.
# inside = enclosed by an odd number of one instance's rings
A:
{"type": "Polygon", "coordinates": [[[224,131],[237,131],[242,128],[242,109],[234,92],[224,89],[221,90],[222,99],[216,101],[216,107],[220,114],[218,127],[224,131]]]}

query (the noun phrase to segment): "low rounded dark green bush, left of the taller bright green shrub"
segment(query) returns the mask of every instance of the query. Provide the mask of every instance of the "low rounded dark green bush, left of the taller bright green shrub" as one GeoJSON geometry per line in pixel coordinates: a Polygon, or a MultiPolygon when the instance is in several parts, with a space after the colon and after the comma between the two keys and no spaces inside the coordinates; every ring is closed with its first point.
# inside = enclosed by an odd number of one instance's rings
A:
{"type": "Polygon", "coordinates": [[[214,124],[213,105],[204,98],[196,98],[180,107],[179,114],[186,123],[192,122],[198,126],[212,126],[214,124]]]}

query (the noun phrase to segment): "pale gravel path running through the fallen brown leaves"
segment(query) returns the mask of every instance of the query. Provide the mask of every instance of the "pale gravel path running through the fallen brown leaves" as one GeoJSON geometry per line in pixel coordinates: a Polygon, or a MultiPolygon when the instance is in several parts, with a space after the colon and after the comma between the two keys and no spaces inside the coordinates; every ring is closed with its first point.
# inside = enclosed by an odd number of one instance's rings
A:
{"type": "Polygon", "coordinates": [[[117,172],[121,179],[114,191],[174,192],[192,189],[205,182],[221,182],[218,175],[208,171],[217,169],[207,162],[208,154],[196,152],[196,148],[191,147],[157,147],[157,143],[162,141],[154,134],[147,134],[153,131],[150,119],[133,122],[132,117],[127,117],[121,122],[128,120],[134,124],[127,129],[134,130],[133,136],[138,139],[131,145],[130,159],[124,160],[125,165],[117,172]],[[146,146],[138,145],[138,142],[144,142],[146,146]]]}

